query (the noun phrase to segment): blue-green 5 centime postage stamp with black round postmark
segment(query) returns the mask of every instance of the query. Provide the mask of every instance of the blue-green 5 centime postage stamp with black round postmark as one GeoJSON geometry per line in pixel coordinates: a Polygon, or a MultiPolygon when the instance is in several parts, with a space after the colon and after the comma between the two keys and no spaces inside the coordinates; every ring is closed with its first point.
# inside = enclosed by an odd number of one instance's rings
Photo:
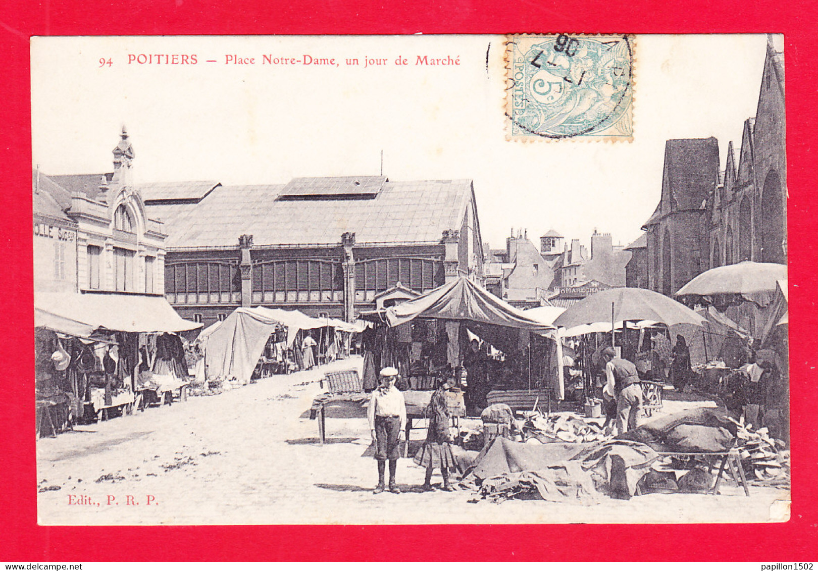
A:
{"type": "Polygon", "coordinates": [[[632,35],[512,34],[505,63],[508,140],[632,140],[632,35]]]}

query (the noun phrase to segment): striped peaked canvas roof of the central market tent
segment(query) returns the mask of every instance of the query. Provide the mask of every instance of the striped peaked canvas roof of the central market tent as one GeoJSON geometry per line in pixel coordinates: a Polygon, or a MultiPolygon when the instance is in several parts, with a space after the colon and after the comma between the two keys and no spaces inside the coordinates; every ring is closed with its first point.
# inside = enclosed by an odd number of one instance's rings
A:
{"type": "Polygon", "coordinates": [[[475,285],[466,277],[443,284],[416,299],[385,310],[390,327],[416,318],[463,321],[473,333],[504,353],[519,347],[519,330],[552,339],[555,342],[555,382],[557,398],[564,398],[562,343],[555,326],[528,317],[497,296],[475,285]]]}

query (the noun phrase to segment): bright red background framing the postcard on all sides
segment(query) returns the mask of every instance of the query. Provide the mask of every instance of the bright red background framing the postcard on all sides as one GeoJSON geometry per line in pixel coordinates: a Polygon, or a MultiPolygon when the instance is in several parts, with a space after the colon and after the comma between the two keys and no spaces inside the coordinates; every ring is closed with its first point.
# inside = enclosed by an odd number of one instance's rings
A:
{"type": "MultiPolygon", "coordinates": [[[[818,187],[811,124],[815,2],[655,0],[6,0],[0,7],[0,560],[818,560],[815,399],[818,187]],[[385,3],[385,2],[384,2],[385,3]],[[96,7],[94,6],[96,4],[96,7]],[[505,34],[510,32],[785,34],[793,515],[785,524],[231,526],[70,528],[36,524],[29,36],[141,34],[505,34]]],[[[759,78],[759,82],[761,78],[759,78]]]]}

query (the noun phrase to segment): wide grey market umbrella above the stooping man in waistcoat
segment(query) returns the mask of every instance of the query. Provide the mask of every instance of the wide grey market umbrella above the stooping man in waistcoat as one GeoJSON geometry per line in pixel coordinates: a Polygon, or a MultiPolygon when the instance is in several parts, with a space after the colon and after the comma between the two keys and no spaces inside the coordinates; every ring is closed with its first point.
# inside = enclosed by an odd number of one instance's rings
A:
{"type": "Polygon", "coordinates": [[[701,325],[703,318],[667,295],[638,287],[617,287],[591,294],[554,320],[555,326],[573,327],[598,321],[658,321],[701,325]]]}

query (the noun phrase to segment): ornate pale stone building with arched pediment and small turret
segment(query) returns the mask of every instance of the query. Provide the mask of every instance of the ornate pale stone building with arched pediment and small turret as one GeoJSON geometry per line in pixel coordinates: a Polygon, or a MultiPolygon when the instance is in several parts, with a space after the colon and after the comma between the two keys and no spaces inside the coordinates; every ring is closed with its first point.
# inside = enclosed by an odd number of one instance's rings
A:
{"type": "Polygon", "coordinates": [[[113,173],[34,174],[35,291],[163,293],[166,236],[133,185],[124,128],[113,154],[113,173]]]}

